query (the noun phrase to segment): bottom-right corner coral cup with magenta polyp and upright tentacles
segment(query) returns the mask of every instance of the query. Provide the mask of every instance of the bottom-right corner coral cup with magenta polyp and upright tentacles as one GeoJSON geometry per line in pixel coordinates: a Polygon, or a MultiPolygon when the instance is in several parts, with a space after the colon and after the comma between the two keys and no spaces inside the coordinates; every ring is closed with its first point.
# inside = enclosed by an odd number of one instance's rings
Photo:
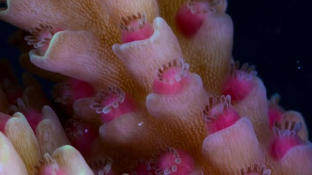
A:
{"type": "Polygon", "coordinates": [[[277,167],[277,174],[309,174],[312,172],[312,144],[301,140],[297,133],[301,124],[274,127],[275,138],[270,145],[269,162],[277,167]]]}

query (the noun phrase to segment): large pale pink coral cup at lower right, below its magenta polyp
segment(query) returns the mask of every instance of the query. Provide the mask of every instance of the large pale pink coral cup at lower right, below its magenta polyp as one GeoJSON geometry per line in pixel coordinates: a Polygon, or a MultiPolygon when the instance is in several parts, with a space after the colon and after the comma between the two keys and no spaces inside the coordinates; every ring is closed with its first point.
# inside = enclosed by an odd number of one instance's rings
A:
{"type": "Polygon", "coordinates": [[[253,162],[264,162],[252,123],[245,117],[206,137],[202,149],[206,160],[213,167],[211,174],[239,174],[242,168],[253,162]]]}

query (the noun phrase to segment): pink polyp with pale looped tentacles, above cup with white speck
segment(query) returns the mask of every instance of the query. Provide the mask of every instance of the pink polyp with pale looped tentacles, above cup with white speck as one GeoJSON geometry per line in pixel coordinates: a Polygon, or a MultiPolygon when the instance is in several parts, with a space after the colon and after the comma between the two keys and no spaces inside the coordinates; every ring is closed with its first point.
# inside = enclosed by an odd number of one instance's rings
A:
{"type": "Polygon", "coordinates": [[[134,101],[129,96],[125,95],[124,101],[120,104],[117,102],[119,98],[118,94],[111,94],[103,99],[102,106],[111,106],[108,113],[101,114],[103,123],[108,123],[121,115],[135,111],[134,101]],[[115,104],[118,106],[114,107],[115,104]]]}

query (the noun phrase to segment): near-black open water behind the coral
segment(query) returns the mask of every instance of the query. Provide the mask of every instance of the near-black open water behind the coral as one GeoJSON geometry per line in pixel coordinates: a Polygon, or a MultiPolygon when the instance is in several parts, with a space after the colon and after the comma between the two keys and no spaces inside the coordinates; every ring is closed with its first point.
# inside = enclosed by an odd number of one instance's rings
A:
{"type": "MultiPolygon", "coordinates": [[[[285,110],[299,111],[309,133],[312,99],[311,31],[308,1],[228,1],[227,13],[234,24],[233,58],[255,64],[267,97],[281,95],[285,110]]],[[[19,51],[8,45],[17,28],[0,21],[0,59],[8,58],[16,74],[19,51]]],[[[50,96],[53,83],[40,79],[50,96]]]]}

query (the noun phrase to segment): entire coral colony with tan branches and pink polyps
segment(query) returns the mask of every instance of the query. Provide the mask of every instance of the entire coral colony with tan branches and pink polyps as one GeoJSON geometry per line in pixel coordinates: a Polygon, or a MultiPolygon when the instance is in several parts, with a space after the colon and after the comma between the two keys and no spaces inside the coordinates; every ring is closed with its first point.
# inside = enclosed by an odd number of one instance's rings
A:
{"type": "Polygon", "coordinates": [[[1,62],[0,174],[312,174],[303,117],[231,56],[226,0],[0,2],[56,83],[1,62]]]}

